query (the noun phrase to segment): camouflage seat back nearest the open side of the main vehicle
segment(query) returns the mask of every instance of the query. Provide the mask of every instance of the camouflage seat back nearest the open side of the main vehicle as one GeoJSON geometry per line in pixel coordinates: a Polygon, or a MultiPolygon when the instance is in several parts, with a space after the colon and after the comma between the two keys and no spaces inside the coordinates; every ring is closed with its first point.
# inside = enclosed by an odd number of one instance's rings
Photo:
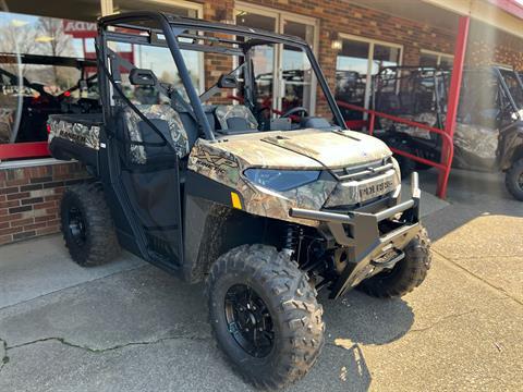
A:
{"type": "MultiPolygon", "coordinates": [[[[188,145],[188,135],[185,131],[182,120],[180,119],[180,114],[174,109],[172,109],[169,105],[137,105],[136,108],[147,119],[151,120],[160,132],[162,132],[162,128],[169,130],[169,132],[166,132],[163,136],[166,136],[168,142],[172,144],[180,159],[188,155],[191,150],[188,145]],[[167,123],[166,127],[161,126],[162,122],[165,122],[163,124],[167,123]]],[[[157,143],[159,139],[161,140],[156,132],[147,132],[147,130],[151,131],[150,127],[147,126],[139,115],[131,108],[124,109],[123,117],[131,142],[149,142],[144,140],[145,138],[149,138],[145,136],[145,133],[157,136],[155,137],[154,143],[157,143]]],[[[161,148],[165,149],[165,147],[161,148]]],[[[158,147],[156,149],[158,149],[158,147]]],[[[147,163],[148,155],[150,155],[151,150],[154,150],[154,148],[147,148],[147,145],[131,144],[131,162],[138,164],[147,163]]]]}

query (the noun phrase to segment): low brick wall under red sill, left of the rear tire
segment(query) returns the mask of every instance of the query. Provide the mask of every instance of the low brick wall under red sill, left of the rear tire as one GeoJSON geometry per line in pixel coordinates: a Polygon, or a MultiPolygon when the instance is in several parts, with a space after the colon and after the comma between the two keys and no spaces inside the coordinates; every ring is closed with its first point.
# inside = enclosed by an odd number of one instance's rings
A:
{"type": "Polygon", "coordinates": [[[76,162],[0,168],[0,244],[58,232],[63,191],[87,177],[76,162]]]}

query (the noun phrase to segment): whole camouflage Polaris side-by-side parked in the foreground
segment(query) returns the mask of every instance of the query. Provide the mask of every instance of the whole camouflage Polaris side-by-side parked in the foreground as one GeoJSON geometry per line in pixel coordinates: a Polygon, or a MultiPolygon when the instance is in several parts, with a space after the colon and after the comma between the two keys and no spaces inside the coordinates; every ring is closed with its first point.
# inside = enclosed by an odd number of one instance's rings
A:
{"type": "Polygon", "coordinates": [[[102,113],[49,120],[52,155],[84,162],[97,181],[61,203],[77,264],[106,262],[123,247],[187,282],[205,280],[219,346],[246,380],[269,388],[318,358],[318,290],[393,297],[423,282],[430,252],[417,176],[400,201],[391,151],[344,130],[305,41],[133,12],[100,19],[96,46],[102,113]],[[130,44],[139,66],[118,53],[130,44]],[[260,107],[257,76],[282,47],[316,78],[332,122],[305,107],[282,115],[260,107]],[[199,94],[187,66],[198,57],[219,70],[199,94]]]}

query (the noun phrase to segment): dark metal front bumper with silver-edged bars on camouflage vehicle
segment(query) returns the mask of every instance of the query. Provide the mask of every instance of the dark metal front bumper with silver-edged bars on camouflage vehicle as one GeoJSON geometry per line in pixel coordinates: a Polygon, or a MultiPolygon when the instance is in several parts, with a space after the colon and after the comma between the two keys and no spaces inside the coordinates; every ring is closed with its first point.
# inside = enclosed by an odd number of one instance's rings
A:
{"type": "Polygon", "coordinates": [[[338,247],[346,249],[346,265],[332,284],[332,298],[339,297],[365,278],[393,267],[404,257],[402,249],[421,230],[417,173],[412,174],[411,188],[412,196],[409,200],[376,213],[290,209],[289,215],[293,218],[321,222],[326,235],[331,237],[338,247]],[[396,216],[401,217],[394,221],[393,229],[380,232],[379,223],[396,216]]]}

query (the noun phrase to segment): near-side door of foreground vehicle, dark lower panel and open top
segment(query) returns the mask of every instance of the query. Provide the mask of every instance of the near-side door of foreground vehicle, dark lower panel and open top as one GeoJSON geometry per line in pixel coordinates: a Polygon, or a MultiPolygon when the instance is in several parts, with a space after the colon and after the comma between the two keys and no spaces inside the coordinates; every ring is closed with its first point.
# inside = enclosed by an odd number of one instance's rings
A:
{"type": "Polygon", "coordinates": [[[188,143],[171,102],[175,65],[167,47],[114,40],[107,51],[118,161],[111,177],[131,213],[133,235],[145,245],[143,256],[178,268],[183,262],[180,167],[188,143]]]}

